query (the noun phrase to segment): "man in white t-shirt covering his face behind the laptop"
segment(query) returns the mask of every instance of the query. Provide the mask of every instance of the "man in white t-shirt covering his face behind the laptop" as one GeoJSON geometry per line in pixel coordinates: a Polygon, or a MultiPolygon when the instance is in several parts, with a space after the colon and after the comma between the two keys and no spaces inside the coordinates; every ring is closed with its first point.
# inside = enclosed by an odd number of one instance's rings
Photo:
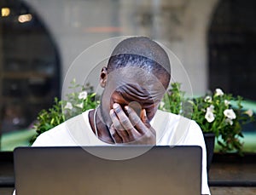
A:
{"type": "Polygon", "coordinates": [[[38,136],[33,146],[201,146],[201,192],[210,194],[200,127],[189,119],[157,110],[170,79],[170,61],[158,43],[148,37],[125,39],[113,50],[108,66],[102,68],[100,106],[38,136]]]}

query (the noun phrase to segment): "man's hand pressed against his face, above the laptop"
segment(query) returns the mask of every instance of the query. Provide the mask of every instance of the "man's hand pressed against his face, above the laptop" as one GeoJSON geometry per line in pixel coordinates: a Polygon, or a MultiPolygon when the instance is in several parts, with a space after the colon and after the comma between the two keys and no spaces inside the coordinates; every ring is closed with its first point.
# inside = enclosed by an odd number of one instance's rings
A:
{"type": "Polygon", "coordinates": [[[109,129],[113,141],[125,144],[155,145],[155,130],[148,121],[146,111],[143,109],[141,118],[130,106],[125,106],[125,111],[129,117],[119,104],[114,103],[109,113],[113,121],[109,129]]]}

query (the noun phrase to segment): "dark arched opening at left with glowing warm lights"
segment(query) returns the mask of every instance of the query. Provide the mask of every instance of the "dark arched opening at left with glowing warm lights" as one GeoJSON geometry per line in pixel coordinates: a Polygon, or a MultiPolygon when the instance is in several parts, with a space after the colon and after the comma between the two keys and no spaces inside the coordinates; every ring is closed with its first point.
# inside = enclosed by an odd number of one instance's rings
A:
{"type": "Polygon", "coordinates": [[[0,2],[0,135],[28,129],[60,93],[60,60],[38,14],[20,0],[0,2]]]}

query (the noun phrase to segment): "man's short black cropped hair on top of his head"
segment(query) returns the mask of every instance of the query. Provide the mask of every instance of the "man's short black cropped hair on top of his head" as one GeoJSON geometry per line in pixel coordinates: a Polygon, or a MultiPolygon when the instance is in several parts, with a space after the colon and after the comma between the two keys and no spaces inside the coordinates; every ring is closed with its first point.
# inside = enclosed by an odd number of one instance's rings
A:
{"type": "Polygon", "coordinates": [[[171,65],[166,51],[148,37],[130,37],[120,42],[108,60],[108,72],[121,67],[142,68],[164,79],[167,88],[171,79],[171,65]]]}

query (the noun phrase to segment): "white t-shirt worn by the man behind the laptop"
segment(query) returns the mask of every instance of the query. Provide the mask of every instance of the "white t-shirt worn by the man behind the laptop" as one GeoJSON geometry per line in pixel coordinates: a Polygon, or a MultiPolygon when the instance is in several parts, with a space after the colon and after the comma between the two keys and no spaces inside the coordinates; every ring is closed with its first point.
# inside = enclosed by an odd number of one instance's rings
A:
{"type": "MultiPolygon", "coordinates": [[[[61,123],[39,135],[32,146],[108,146],[99,140],[89,123],[89,111],[61,123]]],[[[189,145],[202,148],[202,194],[210,194],[207,185],[207,152],[201,128],[195,121],[158,110],[150,122],[156,131],[157,146],[189,145]]]]}

